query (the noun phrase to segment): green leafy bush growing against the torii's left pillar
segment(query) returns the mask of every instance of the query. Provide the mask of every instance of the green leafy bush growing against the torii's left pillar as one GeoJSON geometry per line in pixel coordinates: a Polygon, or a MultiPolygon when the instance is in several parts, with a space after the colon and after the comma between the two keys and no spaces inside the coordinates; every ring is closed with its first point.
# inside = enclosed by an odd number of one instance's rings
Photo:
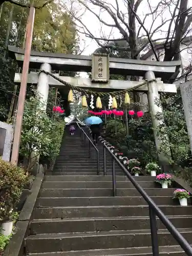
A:
{"type": "Polygon", "coordinates": [[[20,143],[20,156],[28,160],[28,169],[41,158],[52,160],[59,153],[65,122],[58,114],[50,116],[44,110],[44,103],[34,92],[25,103],[20,143]],[[26,146],[27,145],[27,146],[26,146]]]}

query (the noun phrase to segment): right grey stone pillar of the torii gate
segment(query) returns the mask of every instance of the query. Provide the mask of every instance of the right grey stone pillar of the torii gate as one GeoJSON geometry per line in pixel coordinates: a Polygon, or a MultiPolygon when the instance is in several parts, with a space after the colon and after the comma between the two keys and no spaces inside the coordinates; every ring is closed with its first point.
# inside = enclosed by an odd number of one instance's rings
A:
{"type": "MultiPolygon", "coordinates": [[[[155,79],[154,72],[147,71],[145,73],[145,79],[147,79],[149,81],[155,79]]],[[[166,166],[168,166],[168,162],[169,162],[168,158],[163,153],[159,152],[160,146],[162,143],[162,139],[158,135],[158,127],[162,124],[162,121],[157,120],[156,115],[158,113],[163,113],[163,109],[160,105],[156,104],[156,101],[158,101],[160,99],[156,81],[148,83],[147,98],[148,98],[148,106],[150,108],[150,113],[151,113],[151,117],[152,117],[154,138],[155,138],[156,150],[158,152],[159,162],[160,162],[161,166],[163,166],[164,170],[166,170],[166,166]]],[[[166,136],[166,134],[165,134],[165,136],[166,136]]]]}

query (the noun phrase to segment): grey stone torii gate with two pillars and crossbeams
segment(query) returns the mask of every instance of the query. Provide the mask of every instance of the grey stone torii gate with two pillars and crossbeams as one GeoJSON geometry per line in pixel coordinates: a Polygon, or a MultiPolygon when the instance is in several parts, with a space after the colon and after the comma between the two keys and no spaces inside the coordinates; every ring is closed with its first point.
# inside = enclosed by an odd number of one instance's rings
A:
{"type": "MultiPolygon", "coordinates": [[[[19,48],[9,46],[9,55],[16,59],[20,67],[23,66],[25,51],[19,48]]],[[[96,55],[97,57],[101,55],[96,55]]],[[[59,53],[44,53],[32,51],[30,55],[30,68],[40,69],[47,72],[51,70],[65,70],[74,72],[91,72],[98,58],[92,61],[92,56],[59,54],[59,53]],[[92,63],[93,62],[93,63],[92,63]]],[[[155,62],[124,58],[110,58],[105,59],[104,79],[99,79],[98,72],[96,79],[91,81],[89,78],[75,78],[75,77],[59,77],[60,79],[81,88],[92,88],[92,90],[123,90],[134,88],[141,81],[122,81],[122,80],[108,80],[108,73],[118,75],[132,75],[144,77],[148,81],[158,78],[169,78],[172,76],[177,67],[180,67],[181,61],[167,61],[155,62]],[[108,62],[109,61],[109,62],[108,62]],[[109,67],[108,67],[109,66],[109,67]]],[[[58,74],[57,74],[58,76],[58,74]]],[[[14,81],[20,83],[21,74],[16,73],[14,81]]],[[[30,73],[28,74],[28,83],[37,84],[37,91],[42,95],[42,101],[47,102],[49,86],[62,87],[63,84],[53,79],[45,73],[30,73]]],[[[138,92],[147,92],[148,105],[152,116],[152,124],[154,129],[155,143],[157,151],[160,148],[160,138],[157,135],[157,127],[159,121],[155,118],[158,112],[162,112],[162,108],[155,104],[159,99],[159,92],[177,93],[175,84],[164,84],[162,81],[148,82],[145,86],[137,89],[138,92]]],[[[166,161],[166,157],[159,154],[161,163],[166,161]]]]}

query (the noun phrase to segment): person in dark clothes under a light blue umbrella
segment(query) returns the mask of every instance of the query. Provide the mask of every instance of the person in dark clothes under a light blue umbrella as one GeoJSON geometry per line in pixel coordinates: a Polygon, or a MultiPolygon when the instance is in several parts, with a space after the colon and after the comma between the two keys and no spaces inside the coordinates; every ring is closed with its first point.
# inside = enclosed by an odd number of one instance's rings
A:
{"type": "Polygon", "coordinates": [[[98,116],[91,116],[85,120],[86,124],[90,126],[92,138],[95,145],[98,144],[98,138],[102,129],[102,119],[98,116]]]}

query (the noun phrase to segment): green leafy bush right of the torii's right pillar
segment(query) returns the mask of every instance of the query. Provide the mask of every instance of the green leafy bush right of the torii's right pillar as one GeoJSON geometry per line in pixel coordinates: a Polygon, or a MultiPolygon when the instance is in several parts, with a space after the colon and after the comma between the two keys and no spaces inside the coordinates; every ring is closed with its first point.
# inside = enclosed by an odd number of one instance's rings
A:
{"type": "Polygon", "coordinates": [[[190,162],[191,151],[184,117],[183,103],[179,96],[161,95],[163,113],[156,118],[161,121],[158,134],[161,137],[161,151],[170,158],[173,165],[185,165],[190,162]],[[167,136],[165,136],[165,134],[167,136]],[[168,149],[168,151],[167,151],[168,149]]]}

